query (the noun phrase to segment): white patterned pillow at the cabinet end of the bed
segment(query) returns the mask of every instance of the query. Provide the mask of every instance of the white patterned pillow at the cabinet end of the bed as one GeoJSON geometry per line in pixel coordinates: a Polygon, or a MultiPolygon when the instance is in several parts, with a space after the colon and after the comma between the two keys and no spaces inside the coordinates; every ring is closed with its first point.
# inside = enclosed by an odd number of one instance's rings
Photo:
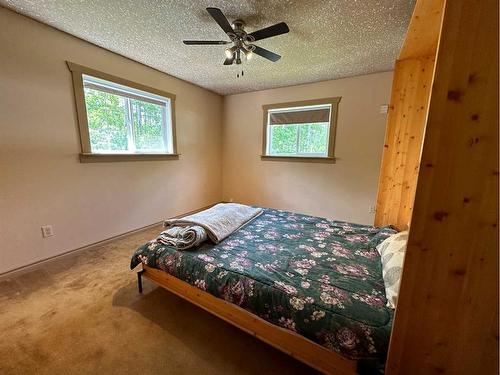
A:
{"type": "Polygon", "coordinates": [[[387,306],[395,309],[398,303],[399,284],[405,258],[408,231],[399,232],[386,238],[377,246],[382,260],[382,276],[385,284],[387,306]]]}

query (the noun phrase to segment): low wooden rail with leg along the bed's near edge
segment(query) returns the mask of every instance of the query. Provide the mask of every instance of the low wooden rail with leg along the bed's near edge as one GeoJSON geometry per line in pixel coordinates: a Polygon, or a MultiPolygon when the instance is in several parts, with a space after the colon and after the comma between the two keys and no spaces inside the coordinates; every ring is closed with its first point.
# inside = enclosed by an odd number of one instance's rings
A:
{"type": "Polygon", "coordinates": [[[335,375],[357,373],[356,361],[344,358],[340,354],[290,330],[271,324],[235,304],[214,297],[164,271],[143,265],[137,276],[139,292],[142,293],[142,277],[144,276],[169,292],[184,298],[322,373],[335,375]]]}

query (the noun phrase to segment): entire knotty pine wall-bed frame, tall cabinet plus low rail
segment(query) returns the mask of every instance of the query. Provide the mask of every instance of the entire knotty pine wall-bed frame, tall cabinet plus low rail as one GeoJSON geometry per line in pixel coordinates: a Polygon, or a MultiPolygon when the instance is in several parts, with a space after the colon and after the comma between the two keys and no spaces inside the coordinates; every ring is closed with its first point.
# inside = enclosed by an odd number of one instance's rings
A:
{"type": "MultiPolygon", "coordinates": [[[[386,373],[497,374],[498,1],[417,0],[389,108],[375,225],[411,231],[386,373]]],[[[323,373],[356,373],[356,361],[166,272],[138,276],[323,373]]]]}

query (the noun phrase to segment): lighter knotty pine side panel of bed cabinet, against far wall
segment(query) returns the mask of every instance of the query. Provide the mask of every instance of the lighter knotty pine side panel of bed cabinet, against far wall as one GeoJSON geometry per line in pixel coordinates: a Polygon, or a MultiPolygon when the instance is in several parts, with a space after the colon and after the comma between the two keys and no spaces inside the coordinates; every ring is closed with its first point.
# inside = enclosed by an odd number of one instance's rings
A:
{"type": "Polygon", "coordinates": [[[396,61],[375,225],[410,221],[433,70],[433,57],[396,61]]]}

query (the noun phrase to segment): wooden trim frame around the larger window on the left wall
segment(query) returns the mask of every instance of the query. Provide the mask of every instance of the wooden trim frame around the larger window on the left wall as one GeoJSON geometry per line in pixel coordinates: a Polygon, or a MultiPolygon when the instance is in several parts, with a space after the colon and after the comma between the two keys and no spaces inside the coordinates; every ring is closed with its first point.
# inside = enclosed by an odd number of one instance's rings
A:
{"type": "Polygon", "coordinates": [[[82,65],[78,65],[67,61],[69,70],[71,71],[72,81],[73,81],[73,91],[75,95],[76,104],[76,114],[78,120],[78,128],[80,133],[80,162],[82,163],[94,163],[94,162],[114,162],[114,161],[140,161],[140,160],[170,160],[178,159],[179,154],[177,153],[177,137],[176,137],[176,127],[175,127],[175,98],[176,96],[172,93],[158,90],[153,87],[145,86],[140,83],[132,82],[124,78],[116,77],[108,73],[100,72],[98,70],[87,68],[82,65]],[[127,86],[131,89],[144,91],[154,95],[158,95],[169,99],[170,110],[167,108],[167,112],[170,112],[170,123],[171,123],[171,136],[172,136],[172,150],[170,153],[147,153],[147,152],[136,152],[136,153],[93,153],[90,145],[90,135],[89,127],[87,121],[87,107],[85,105],[85,91],[83,84],[83,76],[87,75],[90,77],[95,77],[97,79],[102,79],[117,85],[127,86]]]}

